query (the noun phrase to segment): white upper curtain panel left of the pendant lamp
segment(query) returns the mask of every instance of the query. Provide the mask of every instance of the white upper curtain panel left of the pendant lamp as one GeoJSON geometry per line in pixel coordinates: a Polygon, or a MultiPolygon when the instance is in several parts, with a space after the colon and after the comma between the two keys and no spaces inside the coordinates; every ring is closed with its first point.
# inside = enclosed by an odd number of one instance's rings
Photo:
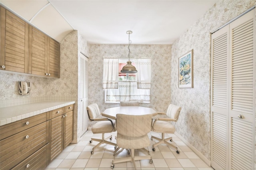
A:
{"type": "Polygon", "coordinates": [[[118,65],[118,59],[104,58],[103,89],[118,89],[118,65]]]}

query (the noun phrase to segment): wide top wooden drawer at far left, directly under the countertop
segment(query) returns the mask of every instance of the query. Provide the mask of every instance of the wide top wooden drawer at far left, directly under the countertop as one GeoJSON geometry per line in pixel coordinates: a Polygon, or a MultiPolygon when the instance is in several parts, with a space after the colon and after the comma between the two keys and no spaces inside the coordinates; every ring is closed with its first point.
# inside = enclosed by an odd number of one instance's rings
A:
{"type": "Polygon", "coordinates": [[[17,134],[23,130],[34,127],[40,123],[46,121],[46,113],[42,113],[36,116],[28,117],[20,121],[13,123],[8,123],[6,125],[0,126],[0,140],[17,134]]]}

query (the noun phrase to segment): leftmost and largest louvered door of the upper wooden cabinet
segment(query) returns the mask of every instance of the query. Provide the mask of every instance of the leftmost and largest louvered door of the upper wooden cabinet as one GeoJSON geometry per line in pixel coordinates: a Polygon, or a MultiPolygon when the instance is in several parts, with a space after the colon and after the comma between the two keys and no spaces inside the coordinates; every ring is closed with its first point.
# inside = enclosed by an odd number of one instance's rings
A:
{"type": "Polygon", "coordinates": [[[0,69],[28,73],[28,23],[0,6],[0,69]]]}

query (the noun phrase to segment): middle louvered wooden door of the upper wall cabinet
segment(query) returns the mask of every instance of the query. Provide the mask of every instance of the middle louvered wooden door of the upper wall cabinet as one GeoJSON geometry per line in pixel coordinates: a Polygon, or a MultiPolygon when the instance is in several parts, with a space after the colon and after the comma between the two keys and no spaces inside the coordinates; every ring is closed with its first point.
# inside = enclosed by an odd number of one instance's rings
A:
{"type": "Polygon", "coordinates": [[[31,31],[31,45],[30,45],[30,57],[31,57],[31,72],[35,75],[45,75],[46,73],[46,36],[41,31],[30,26],[31,31]]]}

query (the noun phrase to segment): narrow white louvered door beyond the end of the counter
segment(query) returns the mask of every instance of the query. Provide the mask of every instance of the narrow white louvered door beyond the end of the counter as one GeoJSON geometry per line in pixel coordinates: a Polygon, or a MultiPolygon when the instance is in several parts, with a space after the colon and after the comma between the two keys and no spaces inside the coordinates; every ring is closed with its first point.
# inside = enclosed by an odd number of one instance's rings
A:
{"type": "Polygon", "coordinates": [[[78,136],[82,136],[88,128],[88,58],[79,53],[78,82],[78,136]]]}

